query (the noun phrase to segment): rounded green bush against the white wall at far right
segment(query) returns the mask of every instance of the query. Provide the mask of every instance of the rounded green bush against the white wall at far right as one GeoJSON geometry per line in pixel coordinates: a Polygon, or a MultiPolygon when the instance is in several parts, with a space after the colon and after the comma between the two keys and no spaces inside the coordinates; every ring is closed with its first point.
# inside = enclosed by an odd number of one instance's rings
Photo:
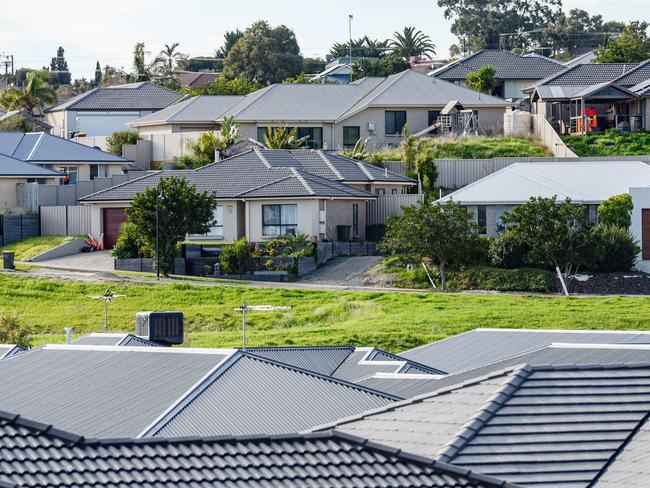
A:
{"type": "Polygon", "coordinates": [[[598,271],[629,271],[636,262],[639,246],[629,230],[597,225],[592,230],[595,265],[598,271]]]}

